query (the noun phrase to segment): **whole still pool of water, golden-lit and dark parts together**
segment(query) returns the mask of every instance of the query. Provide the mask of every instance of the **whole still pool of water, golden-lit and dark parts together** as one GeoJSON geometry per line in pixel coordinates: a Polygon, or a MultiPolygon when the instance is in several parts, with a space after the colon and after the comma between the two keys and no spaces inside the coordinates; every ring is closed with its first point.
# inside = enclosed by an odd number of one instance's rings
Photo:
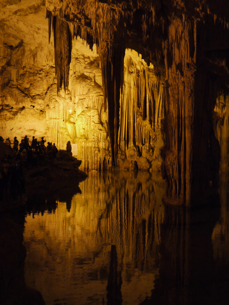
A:
{"type": "Polygon", "coordinates": [[[25,282],[46,305],[227,304],[227,185],[221,210],[193,213],[162,203],[159,174],[90,173],[79,188],[25,217],[25,282]]]}

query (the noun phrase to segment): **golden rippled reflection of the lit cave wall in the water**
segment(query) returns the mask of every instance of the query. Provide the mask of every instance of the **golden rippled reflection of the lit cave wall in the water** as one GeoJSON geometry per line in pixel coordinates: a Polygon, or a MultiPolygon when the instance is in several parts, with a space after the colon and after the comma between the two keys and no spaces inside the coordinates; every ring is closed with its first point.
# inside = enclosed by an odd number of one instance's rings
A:
{"type": "Polygon", "coordinates": [[[51,213],[27,214],[25,278],[47,305],[139,304],[151,295],[164,188],[159,176],[135,176],[92,174],[80,183],[70,212],[59,201],[51,213]]]}

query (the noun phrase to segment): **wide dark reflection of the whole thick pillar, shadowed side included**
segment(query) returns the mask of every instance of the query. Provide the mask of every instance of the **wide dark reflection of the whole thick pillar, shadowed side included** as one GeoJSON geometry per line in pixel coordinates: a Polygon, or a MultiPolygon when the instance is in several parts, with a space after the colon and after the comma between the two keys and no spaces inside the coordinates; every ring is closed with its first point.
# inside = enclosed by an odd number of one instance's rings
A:
{"type": "Polygon", "coordinates": [[[222,304],[211,240],[218,217],[217,208],[185,211],[165,206],[159,277],[144,304],[222,304]]]}

